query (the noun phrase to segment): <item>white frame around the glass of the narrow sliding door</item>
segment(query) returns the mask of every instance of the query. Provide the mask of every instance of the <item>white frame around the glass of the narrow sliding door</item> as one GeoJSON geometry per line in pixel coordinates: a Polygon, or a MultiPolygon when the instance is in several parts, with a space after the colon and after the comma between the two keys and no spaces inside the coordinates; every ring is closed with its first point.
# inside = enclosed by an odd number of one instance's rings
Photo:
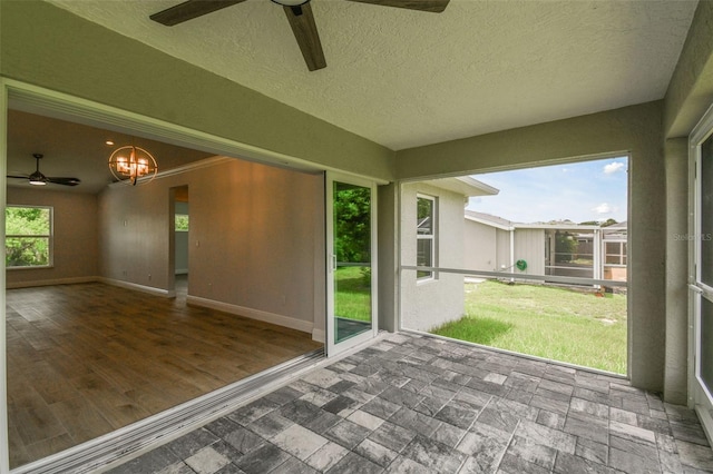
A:
{"type": "Polygon", "coordinates": [[[377,337],[379,333],[379,295],[378,295],[378,254],[377,254],[377,182],[367,178],[345,175],[336,171],[328,171],[324,179],[325,204],[324,214],[326,221],[325,239],[325,282],[326,282],[326,336],[325,352],[328,357],[333,357],[344,353],[362,343],[377,337]],[[356,336],[336,343],[334,332],[334,279],[333,274],[336,268],[336,255],[334,254],[334,182],[346,182],[361,186],[371,190],[371,329],[356,336]]]}

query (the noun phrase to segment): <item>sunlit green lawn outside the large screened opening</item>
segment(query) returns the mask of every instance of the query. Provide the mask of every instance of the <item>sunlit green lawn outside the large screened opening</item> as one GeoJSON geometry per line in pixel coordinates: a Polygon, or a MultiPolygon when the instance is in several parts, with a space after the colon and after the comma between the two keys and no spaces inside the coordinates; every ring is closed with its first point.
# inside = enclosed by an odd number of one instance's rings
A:
{"type": "Polygon", "coordinates": [[[626,373],[626,296],[499,282],[466,284],[466,316],[431,333],[626,373]]]}

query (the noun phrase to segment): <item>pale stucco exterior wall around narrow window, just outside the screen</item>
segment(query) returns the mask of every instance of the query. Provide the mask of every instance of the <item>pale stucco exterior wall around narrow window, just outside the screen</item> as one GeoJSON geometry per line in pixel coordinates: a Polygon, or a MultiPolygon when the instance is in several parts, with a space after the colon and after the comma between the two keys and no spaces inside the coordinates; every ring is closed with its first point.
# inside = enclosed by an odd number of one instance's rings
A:
{"type": "MultiPolygon", "coordinates": [[[[463,265],[463,196],[421,182],[401,186],[401,264],[416,265],[417,194],[438,198],[437,263],[443,268],[463,265]]],[[[417,282],[416,271],[401,273],[401,326],[429,330],[463,315],[463,276],[440,273],[417,282]]]]}

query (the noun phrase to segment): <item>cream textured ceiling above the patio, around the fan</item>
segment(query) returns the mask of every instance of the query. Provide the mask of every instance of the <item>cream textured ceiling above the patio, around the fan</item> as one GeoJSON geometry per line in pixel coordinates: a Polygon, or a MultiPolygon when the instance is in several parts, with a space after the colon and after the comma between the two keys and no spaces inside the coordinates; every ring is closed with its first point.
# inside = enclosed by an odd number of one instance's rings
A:
{"type": "Polygon", "coordinates": [[[697,3],[312,0],[328,67],[309,72],[267,0],[176,27],[148,16],[179,0],[51,2],[394,150],[661,99],[697,3]]]}

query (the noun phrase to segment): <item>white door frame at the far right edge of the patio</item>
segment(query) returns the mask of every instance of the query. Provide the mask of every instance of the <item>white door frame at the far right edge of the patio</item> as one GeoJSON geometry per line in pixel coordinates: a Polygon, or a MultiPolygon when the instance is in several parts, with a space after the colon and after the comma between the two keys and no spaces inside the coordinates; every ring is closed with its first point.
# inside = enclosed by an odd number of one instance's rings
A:
{"type": "Polygon", "coordinates": [[[713,303],[713,287],[701,282],[701,145],[713,136],[713,105],[688,137],[688,407],[713,438],[713,394],[701,379],[701,303],[713,303]]]}

